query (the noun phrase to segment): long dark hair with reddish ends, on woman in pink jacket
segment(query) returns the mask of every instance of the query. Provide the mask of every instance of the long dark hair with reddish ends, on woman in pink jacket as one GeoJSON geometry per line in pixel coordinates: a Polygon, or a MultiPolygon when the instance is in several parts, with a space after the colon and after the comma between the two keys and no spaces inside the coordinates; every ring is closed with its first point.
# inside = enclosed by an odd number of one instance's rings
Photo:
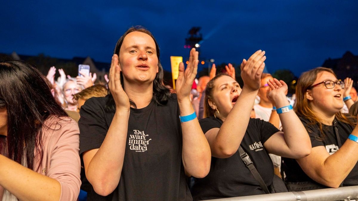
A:
{"type": "Polygon", "coordinates": [[[34,167],[35,157],[43,159],[42,129],[50,116],[67,116],[53,97],[45,77],[29,64],[0,60],[0,100],[7,111],[7,137],[0,141],[0,150],[20,164],[34,167]],[[34,155],[37,153],[37,155],[34,155]]]}

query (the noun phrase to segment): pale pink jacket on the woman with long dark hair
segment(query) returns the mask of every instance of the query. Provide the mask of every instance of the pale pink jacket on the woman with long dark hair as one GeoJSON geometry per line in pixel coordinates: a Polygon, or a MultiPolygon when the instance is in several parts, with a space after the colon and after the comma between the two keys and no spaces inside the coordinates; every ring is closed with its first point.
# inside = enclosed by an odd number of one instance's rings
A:
{"type": "MultiPolygon", "coordinates": [[[[42,129],[43,159],[37,172],[61,184],[60,201],[77,200],[81,186],[78,124],[69,117],[50,117],[45,125],[50,129],[42,129]]],[[[34,167],[38,164],[35,160],[34,167]]]]}

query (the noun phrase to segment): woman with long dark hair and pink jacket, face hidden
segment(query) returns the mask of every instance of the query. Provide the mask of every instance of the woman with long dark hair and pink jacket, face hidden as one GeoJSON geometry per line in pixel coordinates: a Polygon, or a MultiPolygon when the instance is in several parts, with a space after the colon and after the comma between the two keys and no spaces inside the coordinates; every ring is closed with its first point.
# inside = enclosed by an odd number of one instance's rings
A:
{"type": "Polygon", "coordinates": [[[78,124],[40,72],[0,61],[0,200],[77,200],[78,124]]]}

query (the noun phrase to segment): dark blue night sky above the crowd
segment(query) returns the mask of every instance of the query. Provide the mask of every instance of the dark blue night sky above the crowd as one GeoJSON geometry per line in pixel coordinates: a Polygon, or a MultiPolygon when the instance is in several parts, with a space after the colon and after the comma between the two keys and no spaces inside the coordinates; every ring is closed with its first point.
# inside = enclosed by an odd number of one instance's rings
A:
{"type": "MultiPolygon", "coordinates": [[[[110,62],[113,48],[133,25],[158,40],[161,61],[187,57],[184,39],[200,26],[201,57],[241,63],[266,51],[270,73],[295,75],[349,50],[358,55],[358,1],[3,1],[0,53],[86,57],[110,62]]],[[[207,64],[205,64],[207,67],[207,64]]]]}

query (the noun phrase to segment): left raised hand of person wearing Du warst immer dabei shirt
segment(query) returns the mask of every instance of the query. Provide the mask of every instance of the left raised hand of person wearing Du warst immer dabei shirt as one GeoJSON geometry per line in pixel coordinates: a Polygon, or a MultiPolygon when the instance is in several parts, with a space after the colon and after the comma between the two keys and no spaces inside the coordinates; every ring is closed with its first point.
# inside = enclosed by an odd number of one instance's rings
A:
{"type": "Polygon", "coordinates": [[[118,55],[114,54],[112,57],[111,68],[110,68],[110,80],[108,82],[108,88],[113,96],[114,102],[116,103],[117,110],[129,110],[130,103],[129,98],[124,91],[121,84],[121,68],[118,63],[118,55]]]}

